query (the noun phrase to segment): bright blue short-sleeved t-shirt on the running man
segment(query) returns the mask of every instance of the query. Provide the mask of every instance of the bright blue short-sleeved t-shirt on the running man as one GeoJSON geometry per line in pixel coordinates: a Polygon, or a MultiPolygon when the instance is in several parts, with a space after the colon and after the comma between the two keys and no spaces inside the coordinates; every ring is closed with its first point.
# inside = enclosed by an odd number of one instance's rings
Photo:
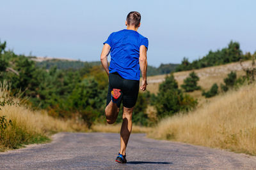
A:
{"type": "Polygon", "coordinates": [[[123,29],[111,33],[105,43],[111,47],[109,73],[117,72],[127,80],[140,80],[140,46],[148,49],[148,39],[137,31],[123,29]]]}

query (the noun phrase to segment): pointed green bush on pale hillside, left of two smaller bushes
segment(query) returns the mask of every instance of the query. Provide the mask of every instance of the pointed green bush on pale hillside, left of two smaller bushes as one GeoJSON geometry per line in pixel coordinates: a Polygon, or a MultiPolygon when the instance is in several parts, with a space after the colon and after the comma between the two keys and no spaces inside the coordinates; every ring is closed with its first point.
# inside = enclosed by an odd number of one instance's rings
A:
{"type": "Polygon", "coordinates": [[[197,85],[199,77],[196,75],[195,71],[191,72],[188,78],[184,79],[184,83],[181,85],[185,92],[193,92],[195,90],[200,90],[200,86],[197,85]]]}

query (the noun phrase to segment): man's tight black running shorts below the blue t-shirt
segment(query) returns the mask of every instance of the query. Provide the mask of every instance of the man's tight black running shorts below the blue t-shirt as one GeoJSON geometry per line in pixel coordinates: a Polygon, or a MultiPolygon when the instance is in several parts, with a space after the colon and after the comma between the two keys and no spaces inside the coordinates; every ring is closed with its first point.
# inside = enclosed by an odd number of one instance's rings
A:
{"type": "MultiPolygon", "coordinates": [[[[109,87],[107,104],[111,101],[111,91],[113,89],[120,89],[122,92],[122,101],[125,108],[132,108],[135,106],[138,99],[140,81],[139,80],[126,80],[122,78],[118,73],[109,74],[109,87]]],[[[117,104],[120,108],[120,102],[117,104]]]]}

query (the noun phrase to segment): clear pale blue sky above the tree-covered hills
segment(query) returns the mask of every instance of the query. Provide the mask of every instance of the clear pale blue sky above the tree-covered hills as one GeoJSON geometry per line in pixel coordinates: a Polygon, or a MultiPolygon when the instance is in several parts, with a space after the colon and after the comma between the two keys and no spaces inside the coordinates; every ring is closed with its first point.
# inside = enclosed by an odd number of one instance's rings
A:
{"type": "Polygon", "coordinates": [[[256,1],[10,0],[0,4],[0,39],[15,53],[99,60],[111,32],[141,13],[138,32],[149,41],[148,64],[180,63],[238,41],[256,51],[256,1]]]}

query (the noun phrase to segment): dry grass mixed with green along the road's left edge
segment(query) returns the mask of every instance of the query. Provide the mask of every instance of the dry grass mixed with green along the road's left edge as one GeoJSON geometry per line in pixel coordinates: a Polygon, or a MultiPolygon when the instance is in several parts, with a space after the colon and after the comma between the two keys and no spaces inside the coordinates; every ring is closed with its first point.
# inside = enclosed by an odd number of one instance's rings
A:
{"type": "MultiPolygon", "coordinates": [[[[8,92],[8,84],[0,85],[0,96],[5,99],[12,99],[8,92]]],[[[3,102],[3,99],[0,102],[3,102]]],[[[20,103],[19,98],[13,98],[13,102],[20,103]]],[[[60,120],[47,115],[46,111],[32,111],[26,106],[8,105],[1,106],[0,117],[6,118],[8,122],[6,128],[0,126],[0,151],[19,148],[29,143],[42,143],[49,141],[49,136],[60,131],[86,131],[86,125],[75,120],[60,120]]],[[[0,120],[0,125],[4,121],[0,120]]]]}

